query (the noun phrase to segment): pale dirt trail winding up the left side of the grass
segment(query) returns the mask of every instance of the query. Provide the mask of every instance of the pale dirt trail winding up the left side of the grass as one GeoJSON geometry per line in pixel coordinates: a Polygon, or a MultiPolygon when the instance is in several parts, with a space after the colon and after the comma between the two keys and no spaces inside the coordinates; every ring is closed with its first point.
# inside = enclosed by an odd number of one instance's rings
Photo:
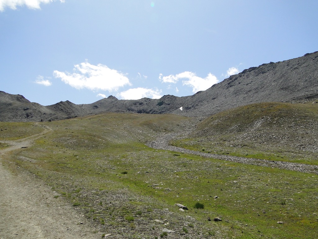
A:
{"type": "MultiPolygon", "coordinates": [[[[54,198],[52,190],[24,173],[14,175],[3,167],[2,156],[50,132],[46,127],[40,134],[5,141],[10,144],[0,150],[0,239],[9,238],[101,238],[94,233],[83,215],[63,198],[54,198]]],[[[4,141],[3,141],[4,142],[4,141]]]]}

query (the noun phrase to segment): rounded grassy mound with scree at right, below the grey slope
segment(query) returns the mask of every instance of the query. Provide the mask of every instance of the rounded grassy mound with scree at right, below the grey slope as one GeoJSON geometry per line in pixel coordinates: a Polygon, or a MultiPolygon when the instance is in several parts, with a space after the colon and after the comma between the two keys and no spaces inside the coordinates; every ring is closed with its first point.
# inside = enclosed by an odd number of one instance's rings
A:
{"type": "Polygon", "coordinates": [[[318,165],[317,135],[318,104],[259,103],[212,115],[173,145],[318,165]]]}

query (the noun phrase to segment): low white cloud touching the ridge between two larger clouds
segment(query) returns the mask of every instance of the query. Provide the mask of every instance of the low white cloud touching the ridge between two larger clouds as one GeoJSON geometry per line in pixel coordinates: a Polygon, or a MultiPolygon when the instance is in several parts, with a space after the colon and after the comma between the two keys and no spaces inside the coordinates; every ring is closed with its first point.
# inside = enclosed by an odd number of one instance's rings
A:
{"type": "Polygon", "coordinates": [[[162,97],[161,90],[152,90],[152,89],[146,89],[146,88],[134,88],[129,89],[127,91],[123,91],[119,93],[119,96],[122,99],[141,99],[144,97],[152,98],[152,99],[159,99],[162,97]]]}

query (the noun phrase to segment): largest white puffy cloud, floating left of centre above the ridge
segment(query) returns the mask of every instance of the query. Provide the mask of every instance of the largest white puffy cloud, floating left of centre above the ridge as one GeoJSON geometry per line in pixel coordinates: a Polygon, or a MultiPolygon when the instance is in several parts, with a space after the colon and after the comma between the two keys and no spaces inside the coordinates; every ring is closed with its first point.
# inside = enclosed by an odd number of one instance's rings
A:
{"type": "Polygon", "coordinates": [[[55,70],[53,75],[76,89],[117,91],[119,87],[131,85],[127,74],[109,69],[102,64],[95,66],[83,62],[74,67],[73,73],[55,70]]]}

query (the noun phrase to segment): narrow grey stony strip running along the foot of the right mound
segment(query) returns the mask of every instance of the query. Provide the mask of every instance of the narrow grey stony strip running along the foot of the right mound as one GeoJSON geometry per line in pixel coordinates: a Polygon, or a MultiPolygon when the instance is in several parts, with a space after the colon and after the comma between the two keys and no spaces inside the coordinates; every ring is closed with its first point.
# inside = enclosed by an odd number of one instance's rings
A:
{"type": "Polygon", "coordinates": [[[237,163],[246,163],[246,164],[253,164],[253,165],[259,165],[259,166],[265,166],[265,167],[294,170],[294,171],[299,171],[304,173],[318,174],[318,166],[316,165],[309,165],[309,164],[302,164],[302,163],[289,163],[289,162],[282,162],[282,161],[269,161],[264,159],[244,158],[244,157],[229,156],[229,155],[209,154],[209,153],[204,153],[200,151],[194,151],[190,149],[185,149],[185,148],[169,145],[169,142],[171,140],[176,139],[179,135],[180,134],[178,133],[163,134],[162,136],[158,137],[156,141],[149,142],[148,146],[151,148],[156,148],[156,149],[171,150],[171,151],[185,153],[185,154],[195,154],[202,157],[216,158],[216,159],[227,160],[227,161],[232,161],[237,163]]]}

